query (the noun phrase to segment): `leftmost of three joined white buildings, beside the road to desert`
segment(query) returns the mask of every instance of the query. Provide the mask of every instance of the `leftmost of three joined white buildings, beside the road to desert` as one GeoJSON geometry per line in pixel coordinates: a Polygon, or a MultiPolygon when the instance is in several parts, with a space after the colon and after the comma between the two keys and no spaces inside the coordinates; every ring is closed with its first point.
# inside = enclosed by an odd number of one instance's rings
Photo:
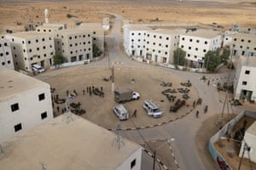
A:
{"type": "Polygon", "coordinates": [[[124,49],[129,56],[145,55],[145,37],[150,28],[143,25],[124,25],[124,49]]]}

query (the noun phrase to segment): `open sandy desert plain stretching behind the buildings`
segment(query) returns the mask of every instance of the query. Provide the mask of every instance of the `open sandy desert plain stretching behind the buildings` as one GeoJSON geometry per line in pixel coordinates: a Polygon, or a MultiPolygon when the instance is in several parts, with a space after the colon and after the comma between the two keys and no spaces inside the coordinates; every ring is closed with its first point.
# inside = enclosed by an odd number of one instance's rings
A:
{"type": "Polygon", "coordinates": [[[225,26],[241,24],[242,26],[256,26],[256,1],[0,1],[0,32],[7,28],[15,31],[22,30],[24,25],[36,21],[44,22],[44,8],[49,9],[49,21],[67,23],[73,27],[74,21],[102,22],[106,14],[97,14],[99,11],[121,14],[124,19],[135,23],[150,23],[150,20],[159,18],[162,21],[151,23],[201,23],[212,25],[212,22],[225,26]],[[23,2],[23,3],[21,3],[23,2]],[[67,14],[74,18],[68,19],[67,14]],[[138,21],[141,20],[141,21],[138,21]],[[18,26],[20,25],[20,26],[18,26]]]}

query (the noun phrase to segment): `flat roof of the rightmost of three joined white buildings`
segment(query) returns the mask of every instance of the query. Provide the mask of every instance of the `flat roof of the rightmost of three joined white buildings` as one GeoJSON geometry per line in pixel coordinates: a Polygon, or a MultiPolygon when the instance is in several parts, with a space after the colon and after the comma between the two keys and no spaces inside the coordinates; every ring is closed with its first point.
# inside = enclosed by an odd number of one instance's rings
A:
{"type": "Polygon", "coordinates": [[[189,30],[187,33],[183,33],[183,36],[213,38],[213,37],[217,37],[220,34],[221,34],[221,32],[219,32],[219,31],[199,29],[196,31],[189,30]]]}

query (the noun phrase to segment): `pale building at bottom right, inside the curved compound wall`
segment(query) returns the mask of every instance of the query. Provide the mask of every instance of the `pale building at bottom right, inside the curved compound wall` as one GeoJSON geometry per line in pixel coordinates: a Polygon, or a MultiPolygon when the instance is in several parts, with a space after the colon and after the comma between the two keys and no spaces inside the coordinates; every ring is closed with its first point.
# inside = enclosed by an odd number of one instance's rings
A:
{"type": "Polygon", "coordinates": [[[241,142],[241,149],[239,152],[239,157],[241,157],[243,150],[245,150],[243,156],[256,163],[255,141],[256,141],[256,122],[253,122],[253,124],[247,128],[247,131],[246,131],[244,138],[241,142]],[[245,144],[247,144],[247,145],[245,145],[245,144]],[[249,151],[247,150],[248,147],[250,148],[249,151]]]}

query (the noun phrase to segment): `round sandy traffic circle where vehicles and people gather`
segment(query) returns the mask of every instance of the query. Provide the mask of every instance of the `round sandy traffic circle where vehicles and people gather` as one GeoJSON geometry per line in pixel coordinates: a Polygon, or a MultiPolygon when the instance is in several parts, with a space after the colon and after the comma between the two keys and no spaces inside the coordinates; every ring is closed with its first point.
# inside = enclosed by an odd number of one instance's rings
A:
{"type": "MultiPolygon", "coordinates": [[[[189,88],[190,98],[186,100],[186,105],[177,113],[170,112],[170,106],[174,105],[177,99],[183,99],[183,94],[173,94],[177,96],[177,98],[174,102],[169,102],[166,96],[161,94],[161,92],[168,88],[186,88],[181,86],[180,82],[186,82],[187,80],[183,80],[172,74],[155,71],[148,67],[141,69],[136,67],[122,67],[119,65],[115,67],[114,72],[115,88],[132,88],[141,94],[141,99],[124,104],[130,112],[130,116],[133,111],[137,109],[137,117],[131,117],[136,127],[145,127],[160,122],[168,122],[175,120],[177,117],[186,115],[193,109],[192,105],[194,100],[199,98],[197,91],[192,86],[189,88]],[[131,79],[135,79],[135,82],[131,82],[131,79]],[[161,82],[172,82],[172,87],[163,87],[160,85],[161,82]],[[143,110],[143,100],[145,99],[152,99],[159,105],[160,109],[165,111],[164,116],[157,119],[147,116],[146,111],[143,110]]],[[[55,88],[54,94],[58,94],[61,99],[67,98],[67,90],[69,93],[75,90],[78,93],[78,97],[70,102],[81,103],[81,108],[86,111],[86,114],[82,115],[84,118],[102,127],[115,128],[119,119],[113,114],[112,107],[119,104],[113,99],[112,82],[103,81],[103,78],[108,78],[110,75],[111,71],[106,67],[86,68],[79,71],[68,71],[55,77],[49,77],[46,82],[49,82],[51,87],[55,88]],[[92,86],[99,89],[103,88],[104,98],[95,94],[90,96],[90,94],[87,93],[87,87],[92,86]],[[83,93],[83,90],[85,93],[83,93]]],[[[62,108],[65,107],[65,105],[58,106],[60,108],[59,112],[56,110],[57,105],[55,105],[56,115],[60,115],[62,108]]],[[[123,121],[121,122],[121,126],[123,128],[134,127],[131,121],[123,121]]]]}

